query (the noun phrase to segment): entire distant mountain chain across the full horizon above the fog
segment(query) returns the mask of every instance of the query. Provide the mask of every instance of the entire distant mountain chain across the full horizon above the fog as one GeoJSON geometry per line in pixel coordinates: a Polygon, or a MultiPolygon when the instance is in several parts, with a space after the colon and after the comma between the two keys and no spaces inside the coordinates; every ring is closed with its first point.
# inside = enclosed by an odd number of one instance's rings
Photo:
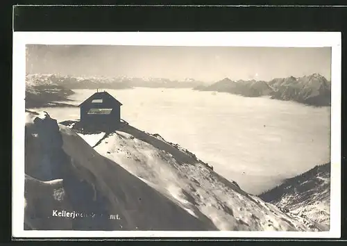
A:
{"type": "MultiPolygon", "coordinates": [[[[55,74],[28,74],[26,76],[27,107],[54,106],[52,101],[69,101],[75,89],[128,89],[128,88],[192,88],[199,91],[228,92],[244,97],[268,96],[271,99],[297,101],[311,106],[330,106],[331,82],[321,74],[295,78],[290,76],[271,81],[232,81],[225,78],[207,84],[194,79],[175,81],[163,78],[130,78],[119,76],[75,77],[55,74]]],[[[57,104],[58,105],[58,104],[57,104]]],[[[59,106],[64,106],[59,104],[59,106]]]]}

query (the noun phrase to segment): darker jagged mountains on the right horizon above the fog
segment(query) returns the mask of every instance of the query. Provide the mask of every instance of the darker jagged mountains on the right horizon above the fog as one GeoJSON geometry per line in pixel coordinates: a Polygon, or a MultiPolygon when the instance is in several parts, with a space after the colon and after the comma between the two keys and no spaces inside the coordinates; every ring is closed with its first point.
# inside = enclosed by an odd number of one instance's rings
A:
{"type": "Polygon", "coordinates": [[[312,106],[330,106],[331,82],[321,74],[271,81],[232,81],[228,78],[212,85],[198,85],[194,90],[228,92],[244,97],[269,96],[271,99],[297,101],[312,106]]]}

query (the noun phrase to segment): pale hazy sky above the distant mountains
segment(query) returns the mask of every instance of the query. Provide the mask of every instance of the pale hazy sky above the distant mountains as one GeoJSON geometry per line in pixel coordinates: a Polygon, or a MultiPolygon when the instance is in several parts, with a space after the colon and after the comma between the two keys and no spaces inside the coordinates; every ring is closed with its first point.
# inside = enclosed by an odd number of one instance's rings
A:
{"type": "Polygon", "coordinates": [[[30,45],[27,73],[218,81],[303,76],[330,80],[331,49],[30,45]]]}

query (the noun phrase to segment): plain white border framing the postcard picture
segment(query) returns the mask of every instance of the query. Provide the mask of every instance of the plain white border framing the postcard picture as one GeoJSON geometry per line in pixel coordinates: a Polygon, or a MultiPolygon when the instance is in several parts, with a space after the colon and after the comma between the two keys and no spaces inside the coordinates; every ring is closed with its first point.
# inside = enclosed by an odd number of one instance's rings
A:
{"type": "Polygon", "coordinates": [[[12,236],[16,238],[339,238],[341,234],[341,33],[14,32],[12,71],[12,236]],[[330,231],[24,231],[26,44],[332,47],[330,231]]]}

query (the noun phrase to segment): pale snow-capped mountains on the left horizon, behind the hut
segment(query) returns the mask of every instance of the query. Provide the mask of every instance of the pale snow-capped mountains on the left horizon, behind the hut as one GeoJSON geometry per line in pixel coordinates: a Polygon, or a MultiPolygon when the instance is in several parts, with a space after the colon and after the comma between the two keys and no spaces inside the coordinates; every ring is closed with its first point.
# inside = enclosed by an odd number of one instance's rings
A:
{"type": "Polygon", "coordinates": [[[26,108],[73,106],[65,103],[68,97],[78,89],[129,89],[145,88],[194,88],[203,82],[194,79],[171,81],[163,78],[129,78],[119,76],[108,77],[78,77],[61,76],[57,74],[27,74],[26,75],[26,108]],[[58,102],[60,101],[60,102],[58,102]],[[62,102],[65,101],[65,102],[62,102]]]}

